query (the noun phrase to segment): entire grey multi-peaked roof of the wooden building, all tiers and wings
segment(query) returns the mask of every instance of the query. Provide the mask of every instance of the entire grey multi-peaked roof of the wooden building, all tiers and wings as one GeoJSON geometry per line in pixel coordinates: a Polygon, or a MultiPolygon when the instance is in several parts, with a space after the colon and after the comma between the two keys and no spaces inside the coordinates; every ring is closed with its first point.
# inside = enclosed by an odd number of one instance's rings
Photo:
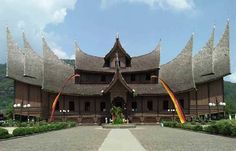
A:
{"type": "MultiPolygon", "coordinates": [[[[74,66],[60,60],[48,47],[43,38],[43,58],[38,56],[25,36],[24,48],[20,49],[7,29],[7,71],[9,78],[42,86],[46,91],[58,92],[64,80],[74,73],[74,66]]],[[[159,77],[175,92],[195,88],[195,83],[208,82],[230,74],[229,22],[219,43],[213,48],[214,31],[206,46],[192,58],[193,37],[182,52],[172,61],[160,66],[160,43],[149,54],[132,57],[131,67],[121,68],[120,72],[138,72],[160,68],[159,77]],[[194,70],[194,72],[193,72],[194,70]],[[194,75],[193,75],[194,73],[194,75]],[[212,74],[214,73],[214,74],[212,74]]],[[[115,68],[104,68],[104,58],[91,56],[76,47],[75,67],[80,70],[115,73],[115,68]]],[[[63,93],[71,95],[102,95],[108,84],[74,84],[65,87],[63,93]]],[[[161,95],[165,90],[158,84],[128,84],[139,95],[161,95]]]]}

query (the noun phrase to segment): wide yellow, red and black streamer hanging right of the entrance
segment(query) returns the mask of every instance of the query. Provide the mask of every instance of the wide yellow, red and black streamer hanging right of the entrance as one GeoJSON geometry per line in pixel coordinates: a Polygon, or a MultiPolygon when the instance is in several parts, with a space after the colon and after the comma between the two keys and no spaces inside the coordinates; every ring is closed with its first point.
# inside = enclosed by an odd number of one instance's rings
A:
{"type": "Polygon", "coordinates": [[[174,103],[175,110],[176,110],[176,112],[178,114],[180,122],[182,124],[184,124],[186,122],[186,117],[184,115],[182,107],[179,105],[178,99],[174,95],[173,91],[169,88],[169,86],[163,80],[161,80],[161,79],[159,79],[159,80],[160,80],[161,84],[163,85],[163,87],[166,89],[167,93],[169,94],[172,102],[174,103]]]}

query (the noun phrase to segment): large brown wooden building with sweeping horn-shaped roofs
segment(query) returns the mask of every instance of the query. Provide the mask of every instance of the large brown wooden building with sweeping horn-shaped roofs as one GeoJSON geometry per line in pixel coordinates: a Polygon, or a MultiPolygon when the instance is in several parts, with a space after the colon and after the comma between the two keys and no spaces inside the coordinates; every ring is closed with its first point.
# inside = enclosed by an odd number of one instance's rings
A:
{"type": "Polygon", "coordinates": [[[110,117],[112,105],[122,107],[126,118],[134,123],[172,118],[168,109],[174,106],[159,78],[176,94],[187,117],[222,113],[218,104],[224,102],[223,77],[230,74],[229,23],[216,46],[214,32],[196,55],[192,55],[191,36],[180,54],[163,65],[160,43],[148,54],[131,57],[119,37],[105,57],[86,54],[76,45],[76,58],[67,64],[51,51],[44,38],[41,57],[24,34],[24,47],[19,48],[7,29],[6,76],[14,79],[15,104],[20,104],[14,113],[48,119],[56,94],[74,73],[80,76],[64,87],[56,106],[57,119],[102,123],[110,117]],[[31,106],[24,108],[25,104],[31,106]]]}

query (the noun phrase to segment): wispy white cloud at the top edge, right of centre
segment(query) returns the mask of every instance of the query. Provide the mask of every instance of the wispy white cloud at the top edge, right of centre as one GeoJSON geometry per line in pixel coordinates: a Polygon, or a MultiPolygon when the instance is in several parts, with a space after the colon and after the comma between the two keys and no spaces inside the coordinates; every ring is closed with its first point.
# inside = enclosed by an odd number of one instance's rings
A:
{"type": "Polygon", "coordinates": [[[193,0],[101,0],[103,9],[117,3],[142,3],[150,8],[173,9],[178,11],[191,10],[194,8],[193,0]]]}

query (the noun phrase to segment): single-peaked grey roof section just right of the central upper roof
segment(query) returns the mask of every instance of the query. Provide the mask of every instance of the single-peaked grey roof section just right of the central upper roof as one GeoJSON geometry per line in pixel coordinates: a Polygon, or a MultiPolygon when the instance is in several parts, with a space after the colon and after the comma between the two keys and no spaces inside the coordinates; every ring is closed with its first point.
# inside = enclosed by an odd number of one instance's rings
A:
{"type": "Polygon", "coordinates": [[[160,79],[174,91],[195,88],[192,69],[193,35],[182,52],[172,61],[160,67],[160,79]]]}

